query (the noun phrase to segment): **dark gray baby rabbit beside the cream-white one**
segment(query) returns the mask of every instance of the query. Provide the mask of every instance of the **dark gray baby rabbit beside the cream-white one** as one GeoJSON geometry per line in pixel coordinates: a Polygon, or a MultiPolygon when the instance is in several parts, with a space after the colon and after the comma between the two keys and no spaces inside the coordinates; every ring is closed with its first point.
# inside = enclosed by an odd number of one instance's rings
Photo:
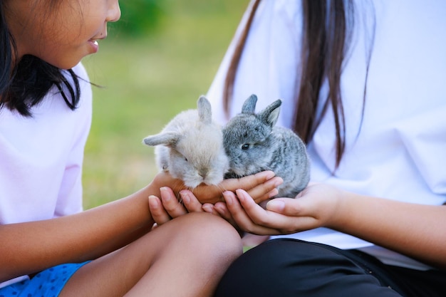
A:
{"type": "Polygon", "coordinates": [[[281,100],[254,113],[257,96],[251,95],[223,128],[224,150],[229,157],[225,178],[244,177],[272,170],[284,179],[276,197],[296,197],[310,179],[310,162],[301,138],[292,130],[275,126],[281,100]]]}

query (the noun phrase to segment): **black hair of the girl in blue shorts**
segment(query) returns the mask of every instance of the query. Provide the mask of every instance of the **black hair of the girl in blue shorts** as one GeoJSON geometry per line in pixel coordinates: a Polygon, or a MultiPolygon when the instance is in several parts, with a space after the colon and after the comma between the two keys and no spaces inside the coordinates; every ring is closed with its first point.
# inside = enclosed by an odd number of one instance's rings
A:
{"type": "Polygon", "coordinates": [[[68,108],[76,109],[81,88],[79,78],[73,70],[62,70],[37,58],[25,55],[20,61],[16,43],[4,13],[4,2],[0,2],[0,108],[16,110],[31,116],[31,108],[41,103],[55,85],[68,108]],[[68,79],[71,78],[71,79],[68,79]]]}

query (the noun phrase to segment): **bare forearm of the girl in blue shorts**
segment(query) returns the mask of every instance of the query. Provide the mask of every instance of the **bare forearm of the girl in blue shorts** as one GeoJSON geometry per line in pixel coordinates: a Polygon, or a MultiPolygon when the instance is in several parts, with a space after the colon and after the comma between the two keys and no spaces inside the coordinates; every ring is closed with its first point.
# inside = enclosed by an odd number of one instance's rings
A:
{"type": "Polygon", "coordinates": [[[153,224],[150,185],[129,197],[71,216],[0,226],[0,281],[56,264],[102,256],[133,241],[153,224]]]}

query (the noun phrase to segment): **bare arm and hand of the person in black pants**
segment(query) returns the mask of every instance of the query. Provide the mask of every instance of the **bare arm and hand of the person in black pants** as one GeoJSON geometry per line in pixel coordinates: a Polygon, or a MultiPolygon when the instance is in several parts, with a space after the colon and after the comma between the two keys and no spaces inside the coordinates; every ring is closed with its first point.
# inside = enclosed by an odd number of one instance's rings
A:
{"type": "Polygon", "coordinates": [[[237,224],[254,234],[289,234],[326,226],[446,269],[446,207],[395,202],[314,184],[296,199],[264,210],[241,190],[226,192],[237,224]]]}

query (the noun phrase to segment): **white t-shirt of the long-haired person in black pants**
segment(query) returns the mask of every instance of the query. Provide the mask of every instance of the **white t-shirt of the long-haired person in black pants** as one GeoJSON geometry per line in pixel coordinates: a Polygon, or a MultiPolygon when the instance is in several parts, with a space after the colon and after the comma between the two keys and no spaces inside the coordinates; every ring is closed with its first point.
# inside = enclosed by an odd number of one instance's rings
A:
{"type": "MultiPolygon", "coordinates": [[[[355,4],[356,27],[341,76],[346,150],[332,175],[336,139],[328,110],[308,145],[311,181],[375,197],[442,204],[446,201],[446,1],[361,0],[355,4]],[[360,131],[373,7],[375,42],[360,131]]],[[[300,1],[261,1],[239,63],[231,116],[255,93],[259,98],[257,110],[281,98],[278,125],[291,126],[301,63],[301,14],[300,1]]],[[[213,115],[221,123],[227,120],[222,108],[224,77],[234,41],[246,20],[247,13],[207,94],[213,115]]],[[[326,85],[321,93],[325,98],[326,85]]],[[[331,229],[290,236],[341,249],[363,249],[388,264],[427,267],[331,229]]]]}

